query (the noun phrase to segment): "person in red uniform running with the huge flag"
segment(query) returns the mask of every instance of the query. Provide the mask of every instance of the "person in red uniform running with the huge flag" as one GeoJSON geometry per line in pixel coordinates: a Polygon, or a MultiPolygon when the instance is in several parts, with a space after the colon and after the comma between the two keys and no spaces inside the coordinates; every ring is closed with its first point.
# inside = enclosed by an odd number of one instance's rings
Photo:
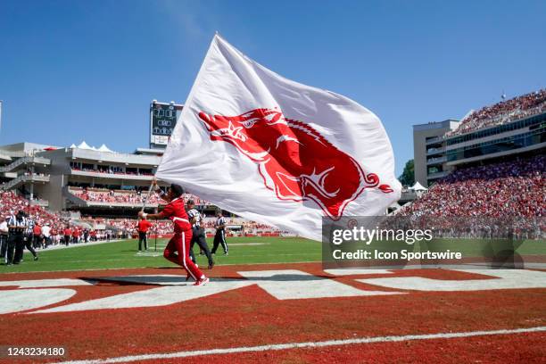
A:
{"type": "Polygon", "coordinates": [[[153,179],[153,189],[161,198],[168,202],[167,206],[160,213],[147,214],[144,211],[138,212],[141,219],[171,219],[174,224],[174,236],[165,247],[163,256],[186,269],[187,273],[194,278],[194,285],[205,285],[209,283],[209,278],[199,270],[189,257],[190,242],[192,240],[192,226],[187,219],[184,200],[181,195],[184,194],[182,186],[175,184],[165,194],[157,186],[157,181],[153,179]]]}

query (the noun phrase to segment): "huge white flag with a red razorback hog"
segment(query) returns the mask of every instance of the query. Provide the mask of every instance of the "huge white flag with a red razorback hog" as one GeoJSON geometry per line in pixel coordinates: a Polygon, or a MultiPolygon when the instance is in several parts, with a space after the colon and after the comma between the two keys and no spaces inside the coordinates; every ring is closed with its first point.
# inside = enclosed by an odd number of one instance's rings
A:
{"type": "Polygon", "coordinates": [[[401,194],[376,115],[277,75],[218,35],[156,176],[316,240],[322,217],[382,215],[401,194]]]}

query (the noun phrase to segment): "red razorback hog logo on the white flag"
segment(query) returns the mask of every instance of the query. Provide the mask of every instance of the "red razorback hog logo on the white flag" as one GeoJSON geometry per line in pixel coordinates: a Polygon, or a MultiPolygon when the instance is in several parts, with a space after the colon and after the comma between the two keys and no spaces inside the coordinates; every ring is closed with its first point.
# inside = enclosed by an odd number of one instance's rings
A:
{"type": "Polygon", "coordinates": [[[339,219],[365,188],[384,193],[374,173],[364,173],[351,155],[330,144],[309,125],[285,119],[281,112],[255,109],[238,116],[200,112],[211,140],[235,145],[255,161],[264,184],[280,200],[314,201],[330,219],[339,219]]]}

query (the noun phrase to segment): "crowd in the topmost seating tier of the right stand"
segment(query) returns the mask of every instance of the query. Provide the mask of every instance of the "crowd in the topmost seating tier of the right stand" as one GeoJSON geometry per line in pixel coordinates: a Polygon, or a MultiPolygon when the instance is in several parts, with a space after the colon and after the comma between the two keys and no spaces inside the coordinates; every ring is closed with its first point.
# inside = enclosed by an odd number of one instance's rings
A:
{"type": "Polygon", "coordinates": [[[446,136],[466,134],[480,128],[505,124],[541,112],[546,112],[546,89],[517,96],[472,112],[460,122],[459,128],[446,133],[446,136]]]}

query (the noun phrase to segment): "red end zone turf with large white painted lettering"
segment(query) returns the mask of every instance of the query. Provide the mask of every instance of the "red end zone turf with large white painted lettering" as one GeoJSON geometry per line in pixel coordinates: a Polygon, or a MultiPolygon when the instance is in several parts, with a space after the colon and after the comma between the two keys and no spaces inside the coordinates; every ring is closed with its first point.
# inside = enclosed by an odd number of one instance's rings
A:
{"type": "Polygon", "coordinates": [[[172,268],[8,274],[0,277],[0,310],[10,311],[0,315],[0,345],[66,347],[50,361],[543,361],[546,272],[499,272],[334,276],[317,263],[244,265],[211,270],[216,280],[205,287],[184,285],[172,268]],[[21,306],[29,302],[41,304],[21,306]],[[254,348],[283,343],[310,344],[254,348]]]}

